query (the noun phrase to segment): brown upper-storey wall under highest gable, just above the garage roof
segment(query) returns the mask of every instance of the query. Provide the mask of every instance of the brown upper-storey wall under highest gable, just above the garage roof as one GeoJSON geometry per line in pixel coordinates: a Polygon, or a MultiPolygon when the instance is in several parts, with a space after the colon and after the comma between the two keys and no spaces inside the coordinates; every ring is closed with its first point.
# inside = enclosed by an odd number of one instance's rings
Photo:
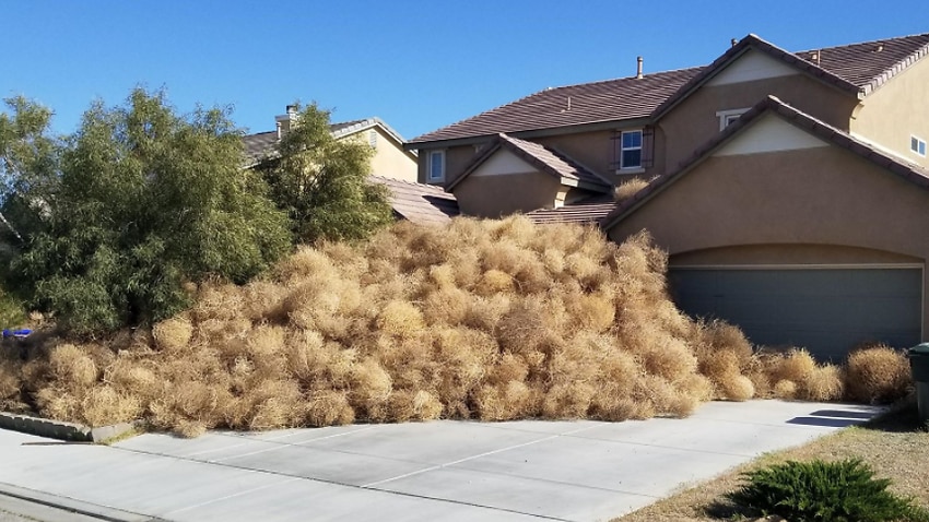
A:
{"type": "Polygon", "coordinates": [[[848,130],[849,118],[858,104],[854,96],[799,73],[744,83],[704,85],[658,122],[666,156],[662,167],[674,170],[695,149],[719,133],[717,111],[750,108],[767,95],[777,96],[842,130],[848,130]]]}

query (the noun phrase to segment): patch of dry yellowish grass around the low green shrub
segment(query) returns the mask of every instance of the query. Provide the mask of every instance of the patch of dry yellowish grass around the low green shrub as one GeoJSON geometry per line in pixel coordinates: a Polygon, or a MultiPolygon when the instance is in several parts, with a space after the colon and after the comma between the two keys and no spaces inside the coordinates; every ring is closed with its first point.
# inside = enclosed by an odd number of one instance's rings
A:
{"type": "Polygon", "coordinates": [[[913,497],[929,507],[929,431],[921,426],[912,401],[899,404],[887,415],[866,425],[839,430],[808,444],[773,452],[738,466],[712,481],[692,486],[613,522],[677,522],[754,520],[756,513],[740,511],[721,500],[739,488],[745,472],[789,460],[839,461],[859,458],[878,477],[892,481],[889,490],[913,497]]]}

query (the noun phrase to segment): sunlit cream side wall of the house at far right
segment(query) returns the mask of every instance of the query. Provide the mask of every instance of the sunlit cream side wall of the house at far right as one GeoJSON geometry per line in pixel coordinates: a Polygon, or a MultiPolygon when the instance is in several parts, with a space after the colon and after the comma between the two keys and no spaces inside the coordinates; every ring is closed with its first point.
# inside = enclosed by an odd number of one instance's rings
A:
{"type": "Polygon", "coordinates": [[[865,98],[851,121],[851,132],[929,168],[929,155],[909,149],[913,134],[929,142],[927,86],[929,58],[924,58],[865,98]]]}

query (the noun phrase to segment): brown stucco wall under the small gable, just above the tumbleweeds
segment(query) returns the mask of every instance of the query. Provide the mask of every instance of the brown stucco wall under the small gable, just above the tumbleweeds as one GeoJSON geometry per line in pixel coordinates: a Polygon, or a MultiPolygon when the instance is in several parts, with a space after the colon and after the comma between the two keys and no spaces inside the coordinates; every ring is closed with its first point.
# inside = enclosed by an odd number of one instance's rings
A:
{"type": "Polygon", "coordinates": [[[516,212],[530,212],[555,204],[561,185],[538,171],[468,176],[455,187],[455,198],[462,214],[499,217],[516,212]]]}

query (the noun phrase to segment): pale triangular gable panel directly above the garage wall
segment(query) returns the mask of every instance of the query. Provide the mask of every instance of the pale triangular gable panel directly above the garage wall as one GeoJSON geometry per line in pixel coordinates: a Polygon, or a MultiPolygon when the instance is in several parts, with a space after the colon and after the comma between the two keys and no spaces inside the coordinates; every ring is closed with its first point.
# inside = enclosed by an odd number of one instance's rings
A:
{"type": "Polygon", "coordinates": [[[798,129],[777,116],[767,114],[760,121],[737,134],[713,155],[737,156],[822,146],[828,146],[828,143],[798,129]]]}

